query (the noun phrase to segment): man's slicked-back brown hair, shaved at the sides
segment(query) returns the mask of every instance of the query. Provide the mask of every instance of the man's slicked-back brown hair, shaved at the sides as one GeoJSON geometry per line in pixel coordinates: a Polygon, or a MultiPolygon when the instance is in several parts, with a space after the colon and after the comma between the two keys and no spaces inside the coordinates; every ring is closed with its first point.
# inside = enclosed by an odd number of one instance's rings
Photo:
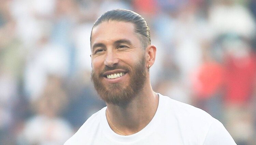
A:
{"type": "MultiPolygon", "coordinates": [[[[139,33],[141,36],[141,44],[144,47],[144,49],[151,44],[150,40],[150,28],[147,25],[146,20],[139,15],[136,12],[133,12],[131,10],[125,10],[125,9],[116,9],[111,10],[103,15],[101,15],[94,23],[93,28],[98,26],[104,21],[124,21],[134,24],[134,29],[136,33],[139,33]]],[[[91,31],[93,31],[93,28],[91,31]]],[[[91,42],[91,37],[90,37],[91,42]]]]}

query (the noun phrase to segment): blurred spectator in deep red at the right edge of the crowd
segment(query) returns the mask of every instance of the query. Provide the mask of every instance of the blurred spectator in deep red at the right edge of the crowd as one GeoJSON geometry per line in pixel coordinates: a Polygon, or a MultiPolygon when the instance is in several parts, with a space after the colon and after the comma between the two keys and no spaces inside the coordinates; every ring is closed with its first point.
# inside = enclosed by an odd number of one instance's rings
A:
{"type": "Polygon", "coordinates": [[[223,40],[226,68],[226,103],[246,105],[256,83],[256,55],[251,44],[238,35],[228,35],[223,40]]]}

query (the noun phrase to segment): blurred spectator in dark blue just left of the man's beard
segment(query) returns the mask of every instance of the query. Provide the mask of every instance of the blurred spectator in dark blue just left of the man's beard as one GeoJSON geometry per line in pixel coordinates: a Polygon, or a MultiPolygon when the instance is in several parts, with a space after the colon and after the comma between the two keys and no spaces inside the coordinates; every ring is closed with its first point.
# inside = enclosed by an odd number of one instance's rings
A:
{"type": "Polygon", "coordinates": [[[80,71],[66,81],[66,88],[70,98],[64,116],[72,124],[74,131],[77,131],[85,120],[106,104],[97,96],[87,70],[80,71]]]}

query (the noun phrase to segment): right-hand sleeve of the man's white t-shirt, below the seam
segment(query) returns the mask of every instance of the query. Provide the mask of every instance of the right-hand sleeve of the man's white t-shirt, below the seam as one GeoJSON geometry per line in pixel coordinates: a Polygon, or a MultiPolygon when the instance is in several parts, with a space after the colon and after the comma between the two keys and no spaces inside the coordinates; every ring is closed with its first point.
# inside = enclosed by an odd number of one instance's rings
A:
{"type": "Polygon", "coordinates": [[[237,145],[223,124],[215,120],[204,140],[203,145],[237,145]]]}

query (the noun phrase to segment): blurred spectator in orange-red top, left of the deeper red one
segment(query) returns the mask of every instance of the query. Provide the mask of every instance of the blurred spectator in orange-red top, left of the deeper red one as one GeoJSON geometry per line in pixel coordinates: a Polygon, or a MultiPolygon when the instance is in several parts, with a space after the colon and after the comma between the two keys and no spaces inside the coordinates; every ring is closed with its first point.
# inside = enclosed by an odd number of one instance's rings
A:
{"type": "Polygon", "coordinates": [[[209,48],[204,48],[203,62],[191,76],[193,102],[219,120],[223,120],[224,74],[222,64],[214,60],[209,48]]]}

